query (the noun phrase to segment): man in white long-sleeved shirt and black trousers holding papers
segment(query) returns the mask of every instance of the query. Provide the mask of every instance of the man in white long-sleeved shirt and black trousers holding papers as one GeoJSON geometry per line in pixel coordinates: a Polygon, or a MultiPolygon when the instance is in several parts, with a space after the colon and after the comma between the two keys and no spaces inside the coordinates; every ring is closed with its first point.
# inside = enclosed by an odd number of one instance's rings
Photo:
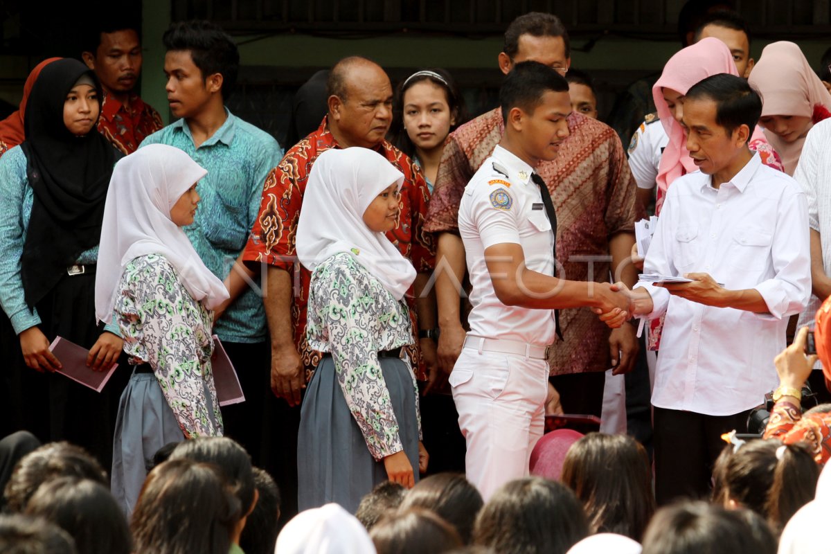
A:
{"type": "Polygon", "coordinates": [[[652,394],[659,504],[708,495],[720,434],[744,431],[774,390],[788,317],[808,302],[805,195],[747,147],[761,107],[727,74],[687,92],[686,145],[701,171],[669,188],[644,271],[693,281],[630,293],[631,313],[666,312],[652,394]]]}

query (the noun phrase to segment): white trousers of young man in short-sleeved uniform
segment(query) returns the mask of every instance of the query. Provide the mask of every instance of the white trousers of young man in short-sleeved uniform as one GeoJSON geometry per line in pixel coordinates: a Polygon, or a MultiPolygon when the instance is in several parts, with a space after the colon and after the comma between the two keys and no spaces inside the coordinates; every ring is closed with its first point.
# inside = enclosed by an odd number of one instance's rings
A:
{"type": "Polygon", "coordinates": [[[467,478],[487,502],[504,483],[529,474],[545,426],[548,363],[465,348],[450,386],[467,443],[467,478]]]}

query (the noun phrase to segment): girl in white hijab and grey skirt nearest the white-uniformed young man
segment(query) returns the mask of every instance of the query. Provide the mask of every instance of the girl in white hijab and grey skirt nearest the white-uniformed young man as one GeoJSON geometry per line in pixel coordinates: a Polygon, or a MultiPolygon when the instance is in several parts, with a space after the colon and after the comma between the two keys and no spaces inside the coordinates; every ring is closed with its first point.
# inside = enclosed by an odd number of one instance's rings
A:
{"type": "Polygon", "coordinates": [[[300,510],[355,512],[387,479],[411,488],[426,469],[403,300],[416,270],[386,238],[404,176],[381,154],[327,150],[309,175],[297,256],[312,272],[309,344],[324,355],[309,382],[297,444],[300,510]]]}

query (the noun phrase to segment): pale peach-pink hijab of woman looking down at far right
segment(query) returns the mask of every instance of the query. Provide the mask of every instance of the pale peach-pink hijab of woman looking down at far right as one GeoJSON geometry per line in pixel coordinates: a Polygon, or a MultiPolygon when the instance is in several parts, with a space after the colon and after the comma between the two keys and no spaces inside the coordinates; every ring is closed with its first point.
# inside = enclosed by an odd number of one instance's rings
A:
{"type": "MultiPolygon", "coordinates": [[[[817,123],[824,119],[818,112],[824,112],[827,116],[826,110],[831,110],[831,94],[793,42],[780,41],[766,46],[748,81],[762,96],[763,117],[798,115],[810,117],[817,123]]],[[[812,126],[809,125],[808,130],[812,126]]],[[[790,143],[765,130],[768,142],[779,152],[784,170],[789,175],[796,170],[808,130],[790,143]]]]}

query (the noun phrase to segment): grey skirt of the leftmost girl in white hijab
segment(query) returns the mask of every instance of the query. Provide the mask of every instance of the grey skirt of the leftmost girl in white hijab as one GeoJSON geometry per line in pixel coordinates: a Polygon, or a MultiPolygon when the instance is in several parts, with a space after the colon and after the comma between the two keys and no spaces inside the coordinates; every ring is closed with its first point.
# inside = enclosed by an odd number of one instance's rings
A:
{"type": "Polygon", "coordinates": [[[121,395],[112,452],[111,490],[127,519],[152,467],[153,455],[165,444],[184,440],[176,416],[152,373],[136,373],[121,395]]]}

